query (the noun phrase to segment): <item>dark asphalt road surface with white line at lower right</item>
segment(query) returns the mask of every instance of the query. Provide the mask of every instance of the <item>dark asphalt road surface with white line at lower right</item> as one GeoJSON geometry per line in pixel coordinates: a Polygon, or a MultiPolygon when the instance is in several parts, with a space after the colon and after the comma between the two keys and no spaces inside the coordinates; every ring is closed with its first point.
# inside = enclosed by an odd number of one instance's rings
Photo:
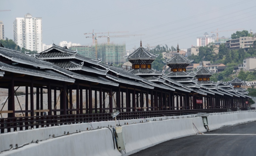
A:
{"type": "Polygon", "coordinates": [[[256,156],[256,121],[169,140],[130,156],[256,156]]]}

